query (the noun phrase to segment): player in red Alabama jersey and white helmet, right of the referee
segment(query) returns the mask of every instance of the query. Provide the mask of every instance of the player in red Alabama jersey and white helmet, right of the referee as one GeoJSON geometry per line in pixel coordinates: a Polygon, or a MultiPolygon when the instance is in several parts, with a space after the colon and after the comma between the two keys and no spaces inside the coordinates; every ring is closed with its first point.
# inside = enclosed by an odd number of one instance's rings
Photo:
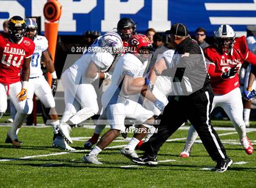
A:
{"type": "MultiPolygon", "coordinates": [[[[244,61],[256,64],[256,56],[248,50],[244,36],[236,39],[235,36],[230,25],[221,25],[215,31],[216,44],[204,49],[204,54],[209,61],[208,73],[215,93],[212,109],[218,106],[224,109],[239,135],[244,150],[251,155],[254,147],[246,136],[238,71],[244,61]]],[[[180,153],[181,157],[190,156],[196,137],[196,130],[191,126],[183,152],[180,153]]]]}

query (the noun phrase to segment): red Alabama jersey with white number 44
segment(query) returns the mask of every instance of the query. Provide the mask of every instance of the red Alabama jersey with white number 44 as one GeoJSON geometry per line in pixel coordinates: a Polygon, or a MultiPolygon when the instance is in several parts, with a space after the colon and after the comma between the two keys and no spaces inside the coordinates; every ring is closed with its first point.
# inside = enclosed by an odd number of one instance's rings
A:
{"type": "Polygon", "coordinates": [[[0,82],[13,84],[20,81],[20,72],[25,58],[33,55],[35,43],[26,37],[12,42],[7,33],[0,34],[0,82]]]}

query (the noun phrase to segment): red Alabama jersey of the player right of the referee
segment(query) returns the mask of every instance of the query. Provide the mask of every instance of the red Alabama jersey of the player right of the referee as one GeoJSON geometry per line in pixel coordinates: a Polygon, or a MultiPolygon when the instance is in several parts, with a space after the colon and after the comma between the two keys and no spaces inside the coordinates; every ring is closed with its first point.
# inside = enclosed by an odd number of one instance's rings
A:
{"type": "Polygon", "coordinates": [[[204,49],[205,58],[210,61],[208,73],[211,76],[211,85],[214,93],[224,95],[240,86],[238,74],[229,79],[222,79],[221,74],[232,67],[241,67],[241,64],[247,59],[248,53],[249,50],[244,36],[235,39],[230,54],[220,54],[215,45],[210,45],[204,49]]]}

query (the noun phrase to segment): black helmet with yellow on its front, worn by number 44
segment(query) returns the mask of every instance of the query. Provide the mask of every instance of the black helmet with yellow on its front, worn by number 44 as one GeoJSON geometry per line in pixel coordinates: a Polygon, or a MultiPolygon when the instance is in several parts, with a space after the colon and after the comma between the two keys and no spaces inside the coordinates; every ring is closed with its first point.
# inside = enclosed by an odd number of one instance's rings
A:
{"type": "Polygon", "coordinates": [[[24,35],[26,29],[26,22],[21,16],[13,16],[9,19],[8,22],[8,30],[9,36],[14,41],[20,41],[22,36],[24,35]]]}

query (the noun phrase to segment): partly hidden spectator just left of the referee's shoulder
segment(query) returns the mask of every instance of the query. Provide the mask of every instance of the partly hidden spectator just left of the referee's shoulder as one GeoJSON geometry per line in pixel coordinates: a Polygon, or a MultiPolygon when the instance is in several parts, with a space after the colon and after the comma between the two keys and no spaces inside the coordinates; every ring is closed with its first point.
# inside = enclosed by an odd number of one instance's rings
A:
{"type": "Polygon", "coordinates": [[[155,49],[155,52],[153,53],[151,62],[150,62],[150,67],[152,67],[155,62],[160,58],[160,56],[168,50],[168,47],[165,46],[165,42],[163,39],[163,35],[161,33],[155,33],[153,36],[153,47],[155,49]]]}

